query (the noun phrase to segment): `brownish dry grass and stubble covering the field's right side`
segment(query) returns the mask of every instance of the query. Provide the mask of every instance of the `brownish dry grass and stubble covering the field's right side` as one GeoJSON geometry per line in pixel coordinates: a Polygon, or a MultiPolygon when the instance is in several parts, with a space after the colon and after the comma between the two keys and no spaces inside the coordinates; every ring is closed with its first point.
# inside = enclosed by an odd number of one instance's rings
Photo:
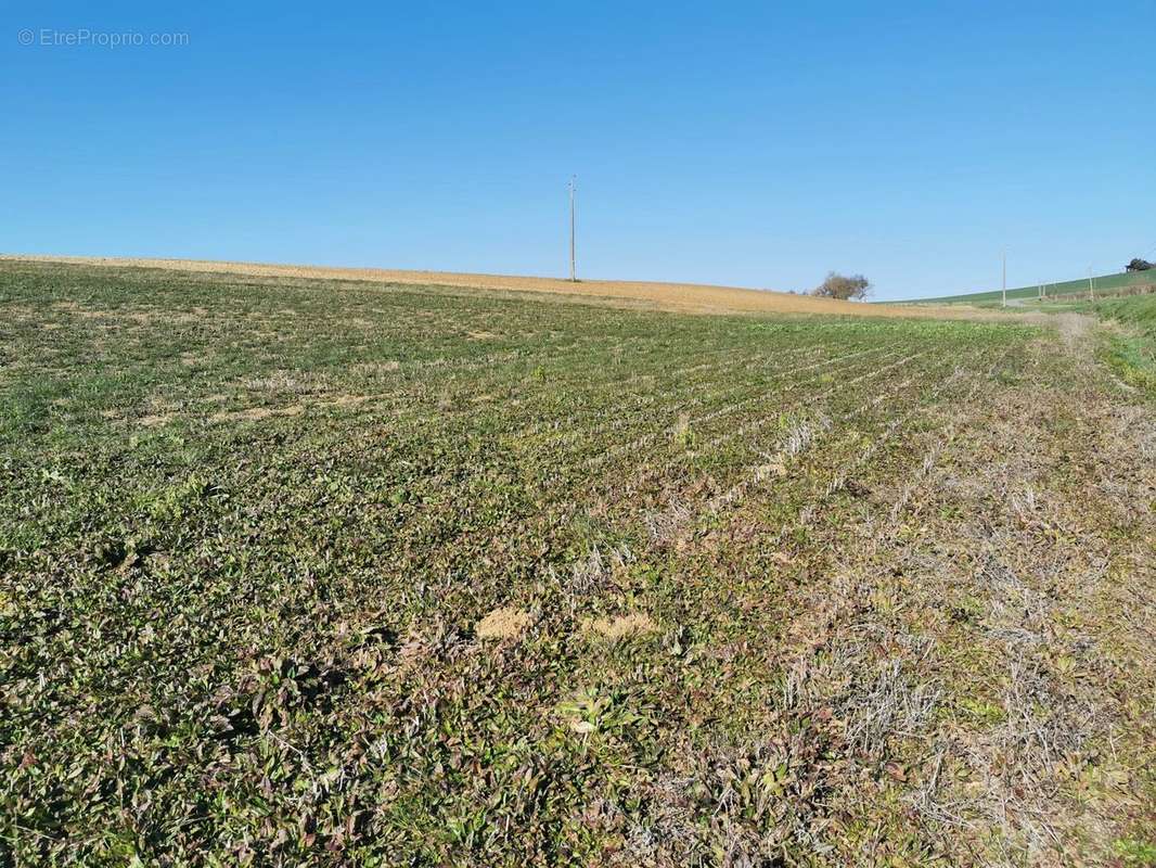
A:
{"type": "Polygon", "coordinates": [[[800,512],[810,545],[781,564],[810,561],[768,612],[781,696],[743,740],[688,738],[633,859],[683,863],[712,838],[736,866],[793,847],[822,865],[1149,863],[1153,719],[1132,697],[1151,694],[1153,428],[1103,389],[1084,331],[1033,345],[1022,380],[963,380],[883,465],[817,485],[835,498],[858,477],[860,520],[800,512]],[[1083,375],[1062,389],[1057,344],[1083,375]],[[1070,461],[1082,446],[1096,461],[1070,461]]]}

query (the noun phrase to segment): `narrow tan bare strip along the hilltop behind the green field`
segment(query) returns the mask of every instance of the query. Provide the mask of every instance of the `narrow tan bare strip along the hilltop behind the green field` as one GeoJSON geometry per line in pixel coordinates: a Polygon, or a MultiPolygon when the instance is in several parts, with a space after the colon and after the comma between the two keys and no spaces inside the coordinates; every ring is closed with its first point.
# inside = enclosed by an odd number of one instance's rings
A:
{"type": "Polygon", "coordinates": [[[336,269],[317,265],[275,265],[262,263],[227,263],[201,259],[147,259],[134,257],[23,256],[3,253],[0,260],[73,263],[109,267],[163,269],[168,271],[210,272],[264,278],[311,278],[361,280],[381,284],[474,287],[558,295],[591,296],[642,303],[664,310],[697,314],[825,314],[828,316],[899,316],[917,318],[985,318],[1001,314],[959,306],[890,306],[862,304],[808,295],[792,295],[761,289],[703,284],[661,284],[640,280],[581,280],[577,284],[558,278],[519,277],[510,274],[465,274],[444,271],[398,271],[391,269],[336,269]]]}

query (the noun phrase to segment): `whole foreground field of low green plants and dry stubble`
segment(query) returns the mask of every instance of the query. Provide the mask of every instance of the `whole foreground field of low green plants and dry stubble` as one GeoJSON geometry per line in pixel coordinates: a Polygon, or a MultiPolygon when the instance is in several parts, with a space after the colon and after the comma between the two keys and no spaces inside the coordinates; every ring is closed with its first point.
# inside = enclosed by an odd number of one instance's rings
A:
{"type": "Polygon", "coordinates": [[[1089,328],[0,263],[0,859],[1142,860],[1089,328]]]}

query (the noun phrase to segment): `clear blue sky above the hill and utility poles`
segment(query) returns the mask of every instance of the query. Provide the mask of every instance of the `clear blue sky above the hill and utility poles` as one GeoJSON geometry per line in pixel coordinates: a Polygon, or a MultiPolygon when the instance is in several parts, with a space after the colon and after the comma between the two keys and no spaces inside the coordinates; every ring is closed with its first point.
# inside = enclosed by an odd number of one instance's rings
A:
{"type": "Polygon", "coordinates": [[[563,274],[577,174],[588,278],[1156,257],[1156,0],[165,6],[0,12],[0,250],[563,274]]]}

